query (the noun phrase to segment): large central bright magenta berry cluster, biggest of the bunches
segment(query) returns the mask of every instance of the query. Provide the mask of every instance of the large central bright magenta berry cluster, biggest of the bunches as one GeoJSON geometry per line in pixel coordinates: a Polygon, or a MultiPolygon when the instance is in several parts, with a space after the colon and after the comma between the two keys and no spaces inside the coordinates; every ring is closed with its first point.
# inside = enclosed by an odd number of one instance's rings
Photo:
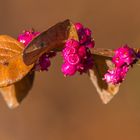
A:
{"type": "Polygon", "coordinates": [[[86,73],[93,67],[93,58],[89,48],[93,48],[95,43],[91,37],[91,30],[84,28],[80,23],[76,23],[75,28],[79,41],[68,39],[62,51],[64,63],[61,71],[65,76],[74,75],[76,71],[80,74],[86,73]]]}

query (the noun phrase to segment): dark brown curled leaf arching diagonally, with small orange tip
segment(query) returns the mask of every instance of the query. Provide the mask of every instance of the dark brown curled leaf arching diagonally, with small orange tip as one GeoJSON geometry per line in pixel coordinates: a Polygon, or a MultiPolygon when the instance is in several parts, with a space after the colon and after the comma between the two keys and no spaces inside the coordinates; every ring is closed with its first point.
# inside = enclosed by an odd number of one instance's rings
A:
{"type": "Polygon", "coordinates": [[[43,53],[60,50],[68,38],[78,40],[75,26],[70,20],[57,23],[34,38],[24,50],[24,62],[33,64],[43,53]]]}

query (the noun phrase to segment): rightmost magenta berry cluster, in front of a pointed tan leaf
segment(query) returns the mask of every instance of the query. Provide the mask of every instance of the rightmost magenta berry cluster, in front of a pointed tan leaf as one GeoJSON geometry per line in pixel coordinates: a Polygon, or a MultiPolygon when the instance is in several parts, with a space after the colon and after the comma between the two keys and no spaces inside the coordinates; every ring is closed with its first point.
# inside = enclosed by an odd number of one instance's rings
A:
{"type": "Polygon", "coordinates": [[[112,62],[115,64],[115,68],[112,70],[108,70],[108,72],[104,75],[104,80],[107,83],[119,84],[124,79],[130,68],[134,63],[138,60],[136,52],[128,47],[128,45],[124,45],[115,50],[115,55],[112,59],[112,62]]]}

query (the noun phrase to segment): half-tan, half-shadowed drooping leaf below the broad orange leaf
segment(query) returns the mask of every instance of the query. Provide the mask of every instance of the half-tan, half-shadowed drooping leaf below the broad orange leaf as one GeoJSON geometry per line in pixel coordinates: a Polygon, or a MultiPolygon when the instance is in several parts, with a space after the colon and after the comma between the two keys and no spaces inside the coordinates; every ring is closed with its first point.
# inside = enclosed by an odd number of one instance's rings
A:
{"type": "Polygon", "coordinates": [[[13,109],[20,105],[21,101],[26,97],[32,88],[33,81],[34,72],[29,73],[15,84],[0,88],[0,93],[2,94],[9,108],[13,109]]]}

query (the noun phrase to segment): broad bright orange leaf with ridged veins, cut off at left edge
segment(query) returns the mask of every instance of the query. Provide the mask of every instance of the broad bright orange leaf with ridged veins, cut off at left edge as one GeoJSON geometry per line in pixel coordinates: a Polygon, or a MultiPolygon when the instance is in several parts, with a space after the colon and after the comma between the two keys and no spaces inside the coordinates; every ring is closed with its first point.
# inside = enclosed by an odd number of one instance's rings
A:
{"type": "Polygon", "coordinates": [[[21,80],[33,67],[23,61],[23,44],[16,39],[0,36],[0,87],[11,85],[21,80]]]}

